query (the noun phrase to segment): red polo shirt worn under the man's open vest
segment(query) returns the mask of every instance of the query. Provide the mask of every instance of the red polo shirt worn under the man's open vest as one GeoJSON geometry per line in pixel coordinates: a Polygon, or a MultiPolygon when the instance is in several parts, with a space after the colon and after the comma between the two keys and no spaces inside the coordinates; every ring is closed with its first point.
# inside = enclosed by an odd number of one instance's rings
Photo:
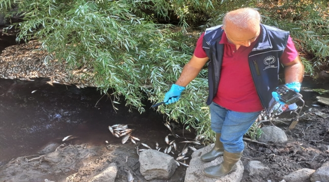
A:
{"type": "MultiPolygon", "coordinates": [[[[202,49],[203,35],[204,33],[198,39],[194,51],[194,55],[198,58],[207,57],[202,49]]],[[[221,78],[213,102],[236,112],[257,112],[263,110],[248,63],[248,55],[258,39],[259,37],[249,47],[241,45],[236,50],[235,45],[227,41],[226,34],[223,32],[222,39],[219,42],[224,44],[221,78]]],[[[280,63],[289,63],[295,60],[297,55],[295,44],[289,36],[287,46],[279,59],[280,63]]]]}

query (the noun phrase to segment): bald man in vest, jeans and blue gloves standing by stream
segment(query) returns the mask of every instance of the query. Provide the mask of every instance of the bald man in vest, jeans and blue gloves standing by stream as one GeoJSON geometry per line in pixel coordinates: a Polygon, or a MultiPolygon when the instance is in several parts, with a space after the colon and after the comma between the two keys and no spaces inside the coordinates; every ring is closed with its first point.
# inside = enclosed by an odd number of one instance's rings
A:
{"type": "Polygon", "coordinates": [[[286,86],[300,90],[304,68],[289,32],[260,22],[259,12],[244,8],[227,13],[223,26],[208,28],[163,101],[178,101],[185,86],[209,60],[207,104],[216,142],[200,159],[211,161],[223,155],[224,161],[205,168],[207,176],[219,177],[236,169],[244,149],[243,134],[263,109],[269,109],[272,95],[279,101],[273,90],[278,85],[280,64],[284,66],[286,86]]]}

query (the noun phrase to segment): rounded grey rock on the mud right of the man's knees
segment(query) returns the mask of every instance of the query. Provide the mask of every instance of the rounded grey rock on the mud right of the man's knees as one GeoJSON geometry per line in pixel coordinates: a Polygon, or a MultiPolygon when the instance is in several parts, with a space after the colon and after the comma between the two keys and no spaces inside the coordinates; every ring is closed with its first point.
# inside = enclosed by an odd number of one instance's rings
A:
{"type": "Polygon", "coordinates": [[[261,128],[264,133],[258,139],[259,142],[284,143],[287,141],[285,132],[276,126],[264,126],[261,128]]]}

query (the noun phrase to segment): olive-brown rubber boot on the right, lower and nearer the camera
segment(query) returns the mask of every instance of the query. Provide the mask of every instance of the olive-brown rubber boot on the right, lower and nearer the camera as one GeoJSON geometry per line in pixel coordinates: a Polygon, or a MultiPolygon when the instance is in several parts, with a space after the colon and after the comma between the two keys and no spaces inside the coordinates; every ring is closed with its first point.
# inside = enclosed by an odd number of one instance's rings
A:
{"type": "Polygon", "coordinates": [[[242,152],[229,153],[224,150],[224,161],[215,166],[203,169],[203,174],[209,177],[220,177],[236,170],[236,163],[241,159],[242,152]]]}

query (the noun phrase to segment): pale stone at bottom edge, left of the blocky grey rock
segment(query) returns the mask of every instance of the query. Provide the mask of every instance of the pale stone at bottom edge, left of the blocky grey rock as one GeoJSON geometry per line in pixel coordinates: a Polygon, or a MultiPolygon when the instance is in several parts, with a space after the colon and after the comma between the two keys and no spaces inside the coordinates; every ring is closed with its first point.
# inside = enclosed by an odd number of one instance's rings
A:
{"type": "Polygon", "coordinates": [[[117,166],[115,163],[110,163],[108,167],[99,172],[97,175],[93,177],[91,181],[94,182],[106,182],[106,181],[114,181],[117,173],[117,166]]]}

